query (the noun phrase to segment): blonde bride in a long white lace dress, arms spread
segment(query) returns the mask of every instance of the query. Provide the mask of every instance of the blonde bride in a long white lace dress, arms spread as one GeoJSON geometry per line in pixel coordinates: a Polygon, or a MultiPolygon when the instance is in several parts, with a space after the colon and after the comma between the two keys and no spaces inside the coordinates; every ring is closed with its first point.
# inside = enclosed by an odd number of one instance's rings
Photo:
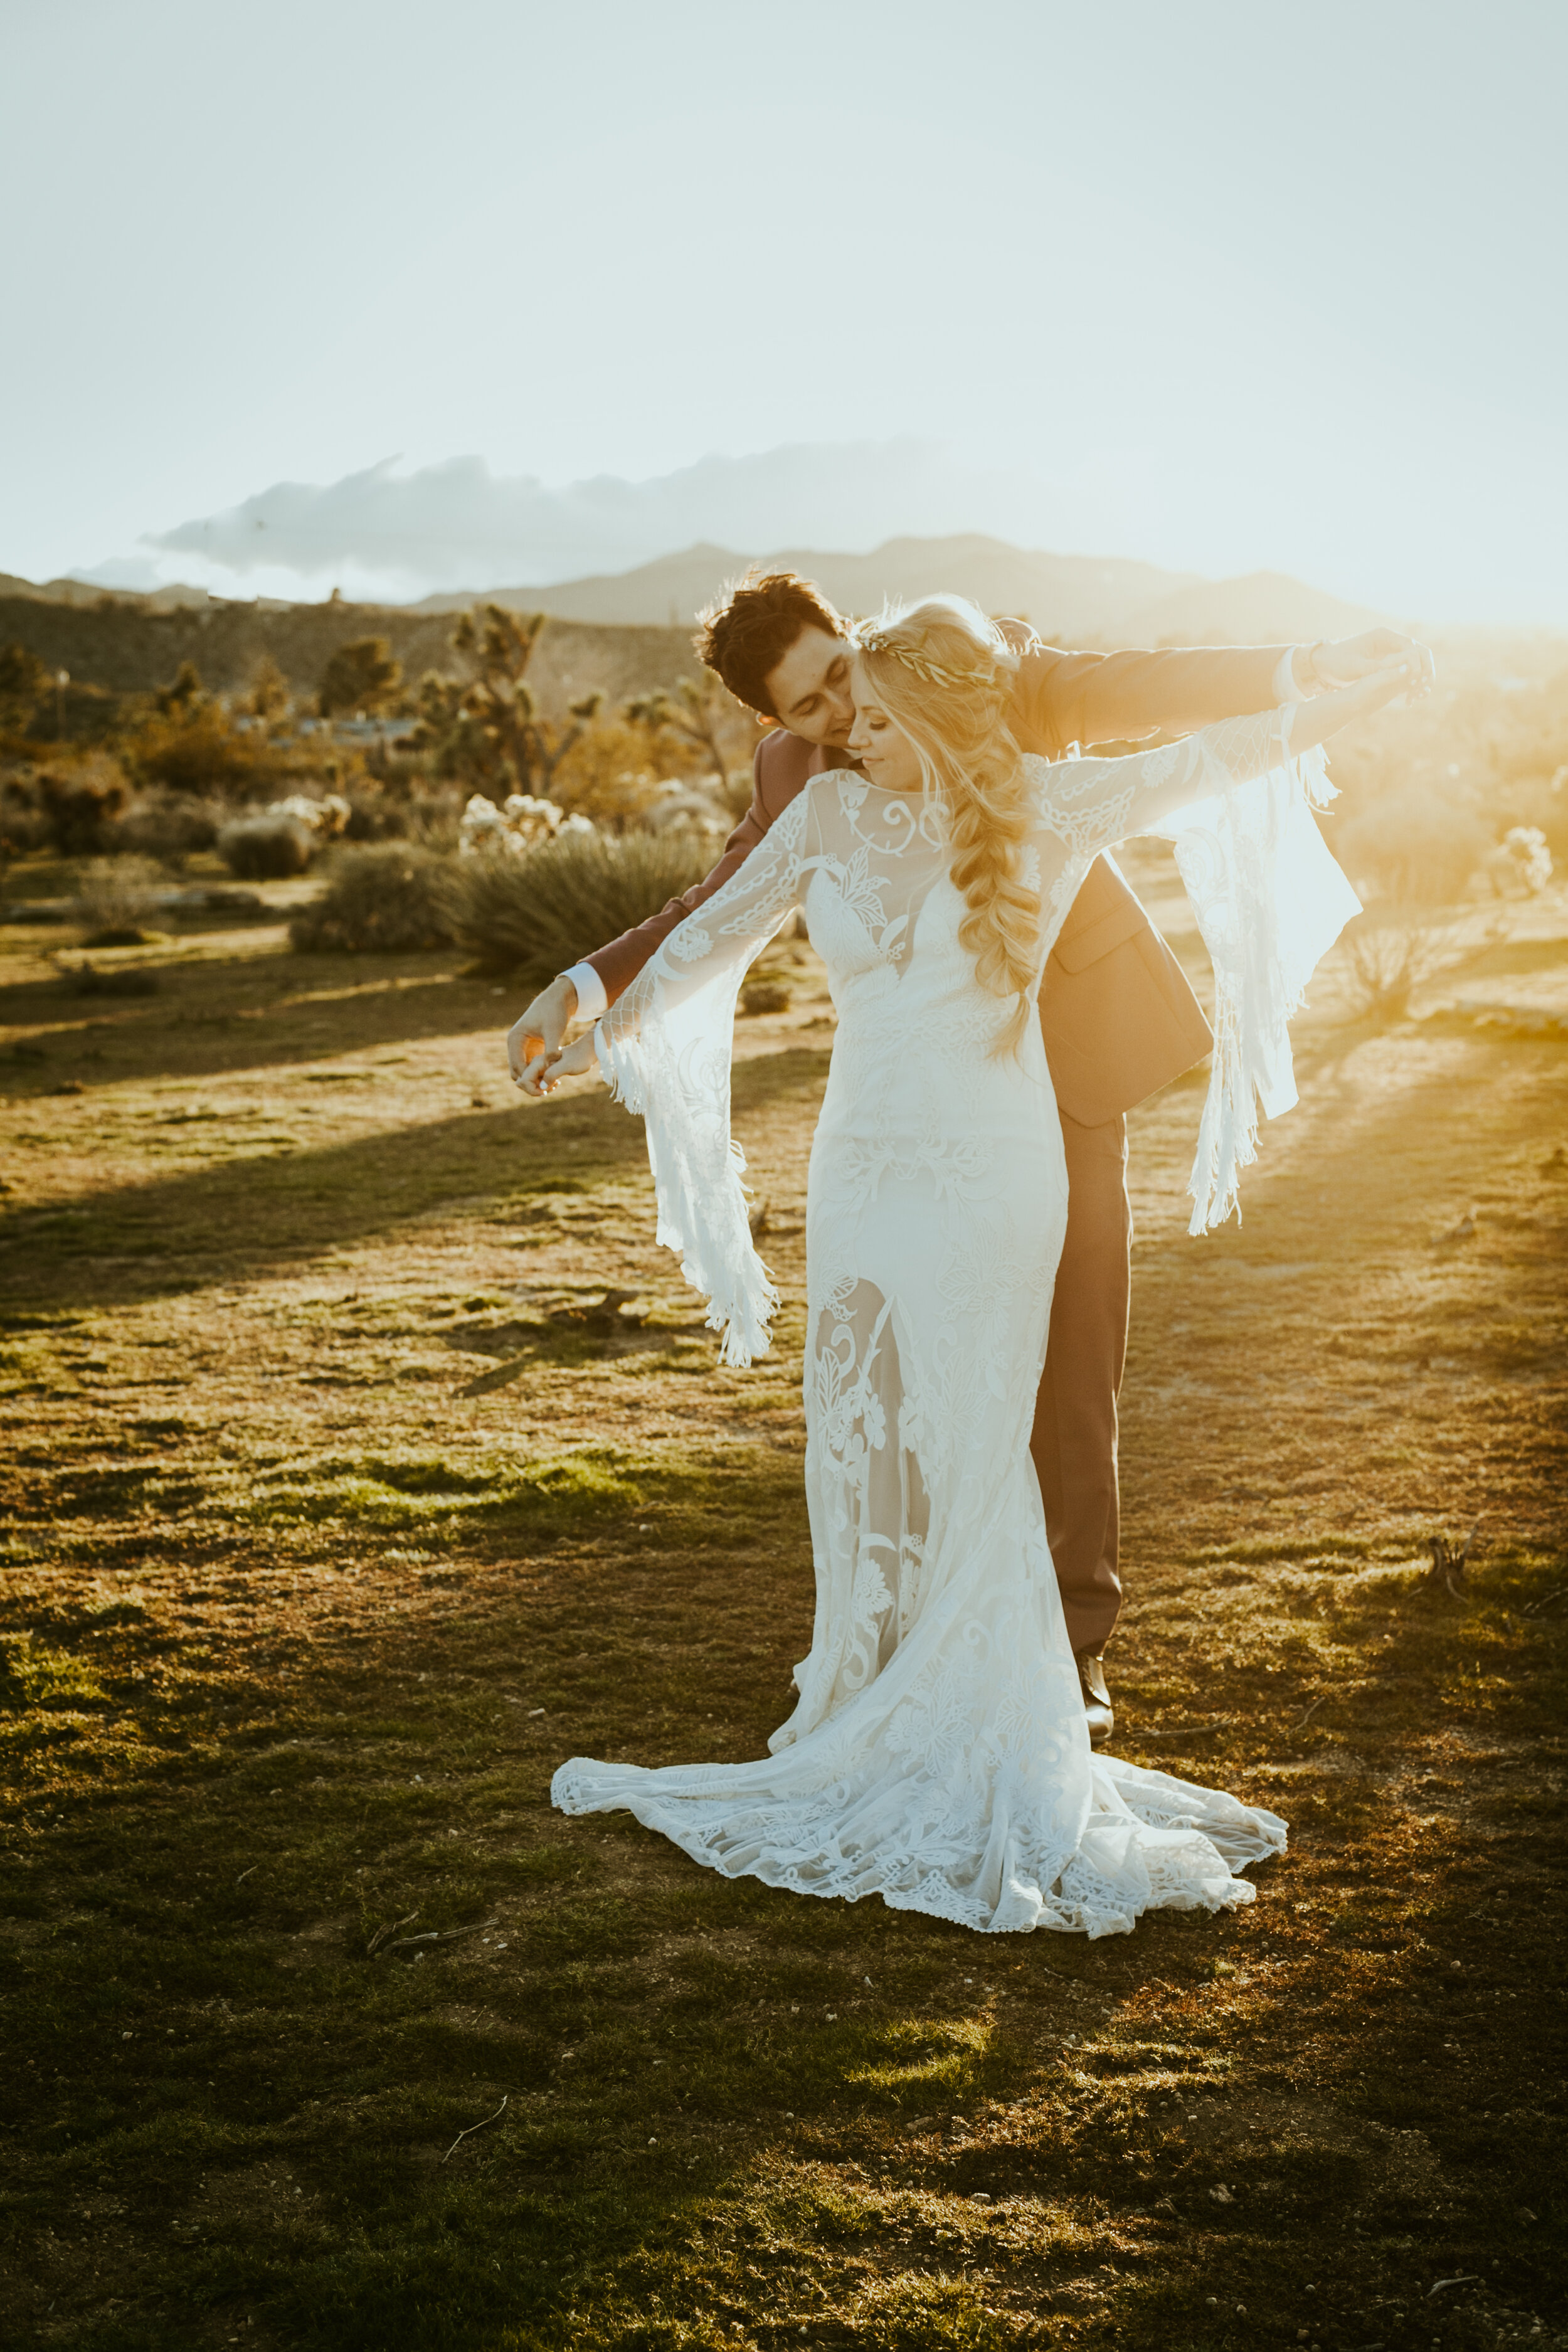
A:
{"type": "MultiPolygon", "coordinates": [[[[1410,677],[1389,670],[1138,757],[1048,764],[1006,731],[1013,661],[957,597],[863,628],[863,774],[816,776],[552,1073],[597,1056],[644,1115],[658,1240],[710,1298],[726,1362],[748,1364],[778,1294],[729,1136],[731,1025],[745,967],[804,910],[839,1030],[806,1195],[816,1621],[799,1703],[755,1764],[574,1757],[550,1795],[567,1813],[628,1809],[731,1877],[877,1893],[992,1933],[1107,1936],[1150,1907],[1251,1903],[1237,1872],[1279,1853],[1286,1823],[1088,1745],[1030,1463],[1067,1216],[1039,976],[1091,858],[1197,802],[1204,858],[1229,866],[1232,917],[1248,887],[1258,906],[1260,870],[1286,901],[1291,814],[1331,863],[1302,814],[1300,753],[1410,677]],[[1262,863],[1227,833],[1237,804],[1262,863]]],[[[1267,906],[1258,920],[1267,929],[1267,906]]],[[[1244,967],[1251,953],[1244,941],[1244,967]]],[[[1269,969],[1276,985],[1276,957],[1269,969]]],[[[1260,1028],[1246,990],[1244,974],[1218,1065],[1227,1035],[1260,1028]]],[[[1239,1070],[1234,1051],[1215,1082],[1222,1124],[1239,1089],[1246,1117],[1253,1084],[1267,1101],[1267,1073],[1239,1070]]],[[[1237,1157],[1251,1150],[1232,1131],[1222,1190],[1237,1157]]]]}

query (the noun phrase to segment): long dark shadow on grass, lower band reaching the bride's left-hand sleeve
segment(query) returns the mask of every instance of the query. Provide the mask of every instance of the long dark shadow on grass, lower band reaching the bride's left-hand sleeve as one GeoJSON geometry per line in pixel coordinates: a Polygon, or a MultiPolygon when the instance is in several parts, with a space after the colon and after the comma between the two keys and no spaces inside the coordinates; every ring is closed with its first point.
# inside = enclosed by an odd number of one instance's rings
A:
{"type": "MultiPolygon", "coordinates": [[[[736,1070],[736,1115],[820,1087],[827,1056],[764,1054],[736,1070]]],[[[383,1129],[322,1150],[230,1160],[153,1183],[75,1195],[68,1207],[0,1218],[9,1294],[28,1305],[110,1301],[127,1289],[188,1289],[249,1268],[310,1258],[386,1232],[442,1202],[494,1197],[498,1209],[555,1176],[644,1169],[642,1122],[609,1096],[524,1115],[470,1112],[383,1129]],[[132,1258],[99,1263],[103,1258],[132,1258]]]]}

